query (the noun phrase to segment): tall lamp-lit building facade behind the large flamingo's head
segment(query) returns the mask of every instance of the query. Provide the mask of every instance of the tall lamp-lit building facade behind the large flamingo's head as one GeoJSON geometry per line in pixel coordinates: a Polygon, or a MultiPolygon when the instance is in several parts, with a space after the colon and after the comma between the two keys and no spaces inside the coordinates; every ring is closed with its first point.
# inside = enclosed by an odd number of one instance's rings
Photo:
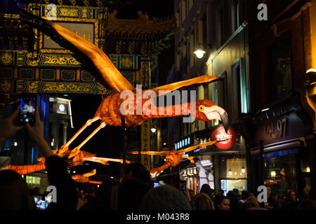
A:
{"type": "MultiPolygon", "coordinates": [[[[199,162],[199,189],[209,183],[216,192],[246,190],[246,136],[242,118],[250,113],[248,27],[246,1],[174,1],[178,33],[175,35],[175,69],[170,80],[186,80],[201,75],[219,76],[212,83],[192,85],[197,99],[209,99],[228,112],[237,143],[227,150],[216,146],[189,153],[199,162]],[[197,58],[196,50],[204,50],[197,58]],[[204,165],[204,166],[202,166],[204,165]],[[205,179],[208,180],[205,182],[205,179]]],[[[192,144],[211,141],[218,120],[182,123],[169,118],[169,141],[176,145],[187,137],[192,144]]],[[[177,147],[176,147],[177,148],[177,147]]],[[[188,183],[190,186],[190,183],[188,183]]]]}

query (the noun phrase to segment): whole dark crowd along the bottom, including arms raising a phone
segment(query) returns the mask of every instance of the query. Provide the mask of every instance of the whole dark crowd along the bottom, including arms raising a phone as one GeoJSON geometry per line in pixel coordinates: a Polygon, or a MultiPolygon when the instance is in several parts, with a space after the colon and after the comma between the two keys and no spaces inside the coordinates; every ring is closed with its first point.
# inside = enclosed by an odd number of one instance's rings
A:
{"type": "MultiPolygon", "coordinates": [[[[18,109],[19,110],[19,109],[18,109]]],[[[168,184],[154,188],[150,172],[138,162],[125,165],[122,179],[108,178],[98,188],[95,195],[86,195],[67,172],[67,162],[55,155],[44,139],[39,108],[35,113],[34,128],[29,124],[18,125],[18,110],[4,121],[0,131],[0,145],[26,128],[32,139],[46,158],[46,172],[51,186],[57,189],[57,200],[48,205],[48,210],[315,210],[316,190],[304,189],[304,198],[298,201],[295,191],[289,191],[287,197],[277,199],[270,186],[268,202],[259,203],[253,193],[237,189],[224,195],[223,190],[215,193],[208,184],[204,184],[197,195],[192,190],[180,190],[168,184]]],[[[33,193],[20,174],[9,170],[0,170],[0,209],[32,210],[39,189],[33,193]]]]}

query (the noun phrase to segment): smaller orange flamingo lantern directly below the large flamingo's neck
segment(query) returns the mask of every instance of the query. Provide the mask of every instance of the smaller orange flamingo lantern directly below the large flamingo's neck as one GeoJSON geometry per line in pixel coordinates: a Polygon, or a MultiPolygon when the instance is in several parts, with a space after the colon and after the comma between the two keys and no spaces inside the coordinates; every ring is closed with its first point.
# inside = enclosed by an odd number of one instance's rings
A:
{"type": "MultiPolygon", "coordinates": [[[[159,172],[162,172],[164,169],[167,169],[168,167],[176,167],[176,165],[178,165],[181,162],[181,160],[183,160],[183,158],[187,158],[188,160],[190,160],[190,162],[195,163],[195,161],[193,160],[193,158],[195,158],[194,156],[183,155],[183,153],[193,151],[199,147],[210,146],[216,144],[216,142],[218,141],[209,141],[204,144],[199,144],[197,146],[191,146],[189,148],[173,151],[141,151],[140,154],[162,155],[166,158],[166,162],[164,163],[164,165],[150,169],[150,174],[152,174],[152,176],[156,176],[159,172]]],[[[136,155],[138,154],[138,151],[131,152],[131,154],[136,155]]]]}

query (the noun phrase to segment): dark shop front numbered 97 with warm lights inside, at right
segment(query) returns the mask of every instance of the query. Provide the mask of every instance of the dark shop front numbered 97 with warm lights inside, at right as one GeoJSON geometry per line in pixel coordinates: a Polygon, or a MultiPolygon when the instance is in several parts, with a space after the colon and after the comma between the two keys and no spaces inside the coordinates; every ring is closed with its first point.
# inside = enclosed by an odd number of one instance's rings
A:
{"type": "Polygon", "coordinates": [[[271,186],[279,198],[289,190],[303,197],[303,188],[311,185],[307,129],[298,111],[291,107],[287,113],[255,125],[255,146],[249,148],[253,190],[264,184],[271,186]]]}

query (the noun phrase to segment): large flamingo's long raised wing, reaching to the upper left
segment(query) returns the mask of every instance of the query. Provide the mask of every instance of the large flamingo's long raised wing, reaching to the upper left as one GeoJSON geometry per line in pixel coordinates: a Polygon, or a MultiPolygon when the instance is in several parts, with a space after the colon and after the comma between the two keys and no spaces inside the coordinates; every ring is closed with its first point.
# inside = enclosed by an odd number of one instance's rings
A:
{"type": "Polygon", "coordinates": [[[96,45],[74,34],[72,31],[61,27],[55,22],[40,18],[37,15],[29,13],[24,8],[20,8],[20,10],[22,15],[21,20],[23,22],[40,29],[44,34],[50,36],[53,41],[74,52],[73,57],[79,62],[82,62],[83,66],[87,64],[87,62],[89,66],[93,65],[92,73],[94,73],[95,70],[100,73],[104,80],[104,82],[101,83],[108,85],[116,92],[122,92],[124,90],[133,91],[135,89],[133,85],[129,83],[129,80],[126,80],[114,66],[109,57],[105,55],[105,52],[96,45]]]}

